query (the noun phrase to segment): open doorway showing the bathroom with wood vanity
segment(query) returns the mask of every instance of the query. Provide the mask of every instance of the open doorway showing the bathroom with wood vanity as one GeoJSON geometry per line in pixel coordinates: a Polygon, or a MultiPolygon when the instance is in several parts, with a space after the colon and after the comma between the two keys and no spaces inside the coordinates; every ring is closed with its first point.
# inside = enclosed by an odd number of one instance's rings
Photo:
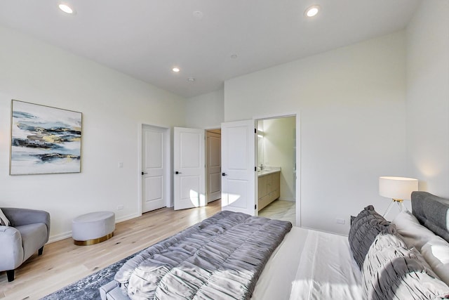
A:
{"type": "Polygon", "coordinates": [[[296,223],[296,117],[257,119],[258,215],[296,223]]]}

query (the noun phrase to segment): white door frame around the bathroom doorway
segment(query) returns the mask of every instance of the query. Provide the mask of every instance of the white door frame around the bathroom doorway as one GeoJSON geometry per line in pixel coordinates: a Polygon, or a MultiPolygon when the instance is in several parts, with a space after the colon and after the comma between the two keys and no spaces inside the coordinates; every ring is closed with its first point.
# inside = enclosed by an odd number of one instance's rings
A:
{"type": "MultiPolygon", "coordinates": [[[[290,112],[284,114],[273,114],[273,115],[258,115],[253,116],[254,121],[263,120],[263,119],[277,119],[283,117],[295,117],[295,126],[296,126],[296,180],[295,180],[295,207],[296,207],[296,226],[301,227],[301,120],[300,120],[300,112],[290,112]]],[[[257,147],[255,149],[257,155],[257,147]]],[[[256,156],[257,157],[257,156],[256,156]]],[[[257,174],[255,174],[255,193],[257,193],[257,174]]],[[[256,194],[257,195],[257,194],[256,194]]]]}

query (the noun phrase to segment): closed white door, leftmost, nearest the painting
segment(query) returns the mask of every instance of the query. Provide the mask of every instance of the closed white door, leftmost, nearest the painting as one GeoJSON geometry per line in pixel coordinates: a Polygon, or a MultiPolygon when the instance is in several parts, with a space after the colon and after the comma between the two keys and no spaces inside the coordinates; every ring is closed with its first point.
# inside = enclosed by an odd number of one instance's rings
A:
{"type": "Polygon", "coordinates": [[[142,213],[166,207],[168,129],[142,126],[142,213]]]}

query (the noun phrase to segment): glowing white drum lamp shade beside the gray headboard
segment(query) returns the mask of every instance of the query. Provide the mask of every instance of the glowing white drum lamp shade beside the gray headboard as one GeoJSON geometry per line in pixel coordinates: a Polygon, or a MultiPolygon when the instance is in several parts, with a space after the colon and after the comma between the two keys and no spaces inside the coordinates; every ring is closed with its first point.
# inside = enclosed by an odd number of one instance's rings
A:
{"type": "Polygon", "coordinates": [[[391,199],[410,200],[413,191],[418,190],[418,180],[406,177],[379,177],[379,195],[391,199]]]}

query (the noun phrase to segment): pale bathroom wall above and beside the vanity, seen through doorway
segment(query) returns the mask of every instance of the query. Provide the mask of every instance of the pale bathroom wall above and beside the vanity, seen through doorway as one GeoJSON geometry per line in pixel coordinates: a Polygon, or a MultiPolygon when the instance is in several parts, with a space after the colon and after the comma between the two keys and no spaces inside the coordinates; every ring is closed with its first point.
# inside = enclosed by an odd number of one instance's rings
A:
{"type": "Polygon", "coordinates": [[[280,200],[295,201],[295,117],[263,120],[263,164],[281,167],[280,200]]]}

